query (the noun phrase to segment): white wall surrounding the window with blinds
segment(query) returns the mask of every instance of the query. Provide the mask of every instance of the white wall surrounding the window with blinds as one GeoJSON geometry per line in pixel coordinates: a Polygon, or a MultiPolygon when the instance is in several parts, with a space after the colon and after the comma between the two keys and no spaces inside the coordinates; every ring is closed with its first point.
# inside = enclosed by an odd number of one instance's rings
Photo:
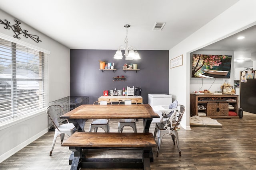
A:
{"type": "MultiPolygon", "coordinates": [[[[12,16],[0,10],[0,19],[14,24],[12,16]]],[[[40,21],[38,21],[40,22],[40,21]]],[[[36,31],[21,21],[20,27],[28,33],[38,35],[42,42],[36,43],[30,38],[20,35],[18,40],[13,37],[14,32],[4,29],[0,24],[0,38],[13,39],[16,43],[27,44],[30,47],[48,51],[48,101],[70,96],[70,49],[36,31]]],[[[45,109],[30,117],[22,117],[15,123],[3,125],[0,123],[0,162],[22,149],[48,131],[48,117],[45,109]]],[[[49,150],[50,152],[50,150],[49,150]]]]}

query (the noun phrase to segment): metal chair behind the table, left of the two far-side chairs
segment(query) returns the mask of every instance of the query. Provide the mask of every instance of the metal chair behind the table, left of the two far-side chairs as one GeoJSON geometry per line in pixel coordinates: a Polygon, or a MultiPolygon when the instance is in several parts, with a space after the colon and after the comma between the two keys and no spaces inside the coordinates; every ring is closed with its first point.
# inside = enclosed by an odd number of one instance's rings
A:
{"type": "MultiPolygon", "coordinates": [[[[109,102],[109,101],[96,101],[93,104],[107,105],[107,104],[112,104],[112,102],[109,102]]],[[[104,129],[105,132],[110,132],[109,120],[108,119],[92,120],[92,123],[90,123],[89,132],[92,132],[93,129],[94,129],[94,132],[97,132],[98,131],[98,127],[104,129]]]]}

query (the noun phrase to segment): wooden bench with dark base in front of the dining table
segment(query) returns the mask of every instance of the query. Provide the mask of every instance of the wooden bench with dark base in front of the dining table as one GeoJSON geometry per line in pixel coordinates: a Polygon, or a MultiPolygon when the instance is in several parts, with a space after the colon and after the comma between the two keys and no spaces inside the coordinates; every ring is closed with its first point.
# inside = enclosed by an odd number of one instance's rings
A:
{"type": "MultiPolygon", "coordinates": [[[[79,168],[144,168],[150,170],[152,147],[156,141],[152,133],[86,133],[76,132],[62,143],[73,152],[70,170],[79,168]],[[140,149],[142,158],[86,158],[84,150],[140,149]]],[[[122,156],[122,155],[121,155],[122,156]]],[[[122,156],[123,157],[123,156],[122,156]]],[[[125,157],[125,156],[124,156],[125,157]]]]}

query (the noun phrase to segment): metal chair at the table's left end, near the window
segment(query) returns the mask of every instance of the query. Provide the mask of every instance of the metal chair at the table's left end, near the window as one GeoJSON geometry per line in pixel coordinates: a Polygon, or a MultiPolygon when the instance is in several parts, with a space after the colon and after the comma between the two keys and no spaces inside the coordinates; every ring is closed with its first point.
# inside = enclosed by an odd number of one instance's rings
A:
{"type": "Polygon", "coordinates": [[[52,142],[52,150],[50,151],[50,156],[52,156],[52,151],[54,149],[54,145],[55,145],[56,138],[58,137],[58,135],[60,135],[60,141],[62,144],[65,134],[67,134],[70,137],[76,131],[76,127],[74,126],[73,123],[69,123],[68,119],[66,119],[66,121],[68,123],[64,123],[61,125],[58,123],[58,117],[57,117],[58,114],[57,113],[60,111],[62,112],[62,115],[63,115],[64,111],[60,105],[52,105],[52,106],[47,107],[47,109],[46,109],[46,113],[47,113],[48,117],[50,117],[50,119],[55,127],[55,133],[54,133],[54,138],[53,138],[53,142],[52,142]]]}

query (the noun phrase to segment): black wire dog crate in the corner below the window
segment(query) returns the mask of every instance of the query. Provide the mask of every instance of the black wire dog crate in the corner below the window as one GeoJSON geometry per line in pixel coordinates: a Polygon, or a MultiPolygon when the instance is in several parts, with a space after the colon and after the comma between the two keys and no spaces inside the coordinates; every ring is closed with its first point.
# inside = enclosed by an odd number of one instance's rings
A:
{"type": "MultiPolygon", "coordinates": [[[[52,101],[49,103],[49,106],[52,105],[60,105],[64,111],[64,113],[67,113],[68,111],[82,105],[82,104],[89,104],[89,97],[88,96],[67,96],[65,98],[61,98],[55,101],[52,101]]],[[[59,117],[62,115],[61,109],[58,109],[56,111],[58,122],[62,123],[64,119],[60,119],[59,117]]],[[[53,130],[54,125],[50,118],[48,118],[48,130],[53,130]]]]}

